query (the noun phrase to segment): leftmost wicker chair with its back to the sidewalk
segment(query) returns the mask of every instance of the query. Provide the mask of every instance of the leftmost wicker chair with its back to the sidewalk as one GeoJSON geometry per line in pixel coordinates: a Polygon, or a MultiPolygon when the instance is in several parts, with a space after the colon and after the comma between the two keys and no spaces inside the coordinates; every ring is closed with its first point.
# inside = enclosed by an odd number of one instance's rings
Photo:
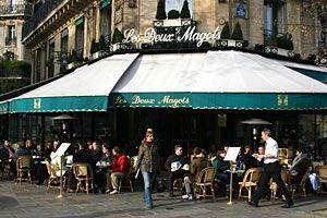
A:
{"type": "Polygon", "coordinates": [[[32,157],[31,156],[20,156],[16,160],[16,171],[17,171],[17,177],[16,177],[16,182],[20,181],[22,184],[22,180],[27,180],[32,183],[32,157]],[[24,178],[24,174],[27,173],[27,179],[24,178]]]}

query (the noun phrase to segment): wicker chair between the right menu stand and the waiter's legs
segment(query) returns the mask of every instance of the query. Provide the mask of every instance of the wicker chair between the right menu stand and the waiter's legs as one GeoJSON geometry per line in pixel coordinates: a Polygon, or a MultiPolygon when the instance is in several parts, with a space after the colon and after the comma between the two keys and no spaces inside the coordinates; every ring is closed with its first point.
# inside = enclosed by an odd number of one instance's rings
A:
{"type": "Polygon", "coordinates": [[[247,197],[249,201],[252,198],[252,187],[257,187],[257,183],[262,175],[262,168],[251,168],[249,169],[243,178],[242,182],[239,182],[240,190],[239,190],[239,199],[241,197],[247,197]],[[246,189],[247,195],[242,195],[242,190],[246,189]]]}

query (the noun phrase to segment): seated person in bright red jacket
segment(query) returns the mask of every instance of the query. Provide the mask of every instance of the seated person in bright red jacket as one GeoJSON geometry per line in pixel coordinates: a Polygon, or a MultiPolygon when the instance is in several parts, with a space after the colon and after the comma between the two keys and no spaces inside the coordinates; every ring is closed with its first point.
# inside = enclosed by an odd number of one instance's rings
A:
{"type": "Polygon", "coordinates": [[[111,184],[113,191],[110,194],[117,194],[119,187],[119,179],[122,179],[126,174],[129,174],[131,169],[131,161],[120,152],[118,146],[114,146],[112,149],[113,161],[112,161],[112,172],[111,172],[111,184]]]}

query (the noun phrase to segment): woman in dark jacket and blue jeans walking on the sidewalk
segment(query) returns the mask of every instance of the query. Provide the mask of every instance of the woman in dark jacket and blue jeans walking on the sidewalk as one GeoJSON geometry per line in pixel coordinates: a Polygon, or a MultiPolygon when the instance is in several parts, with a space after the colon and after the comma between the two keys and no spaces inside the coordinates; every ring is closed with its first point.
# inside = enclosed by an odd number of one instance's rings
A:
{"type": "Polygon", "coordinates": [[[136,161],[136,169],[140,168],[143,181],[144,181],[144,201],[146,207],[152,209],[153,197],[152,197],[152,184],[156,173],[159,171],[160,166],[159,149],[156,143],[154,143],[153,132],[147,131],[145,137],[142,140],[138,156],[136,161]]]}

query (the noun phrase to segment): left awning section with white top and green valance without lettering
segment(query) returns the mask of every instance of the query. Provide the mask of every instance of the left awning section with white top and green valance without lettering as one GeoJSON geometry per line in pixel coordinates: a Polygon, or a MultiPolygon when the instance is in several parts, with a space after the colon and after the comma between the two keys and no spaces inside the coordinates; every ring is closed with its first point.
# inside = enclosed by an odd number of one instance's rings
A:
{"type": "Polygon", "coordinates": [[[138,53],[116,55],[13,98],[9,112],[107,111],[108,96],[138,53]]]}

